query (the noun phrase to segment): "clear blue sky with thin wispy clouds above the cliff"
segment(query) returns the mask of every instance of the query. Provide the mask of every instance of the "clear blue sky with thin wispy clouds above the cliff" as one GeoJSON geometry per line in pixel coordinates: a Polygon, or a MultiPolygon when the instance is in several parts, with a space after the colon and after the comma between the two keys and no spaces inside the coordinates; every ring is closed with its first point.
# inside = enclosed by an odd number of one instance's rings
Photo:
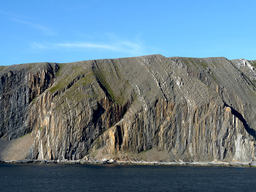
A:
{"type": "Polygon", "coordinates": [[[255,0],[2,1],[0,65],[162,54],[256,59],[255,0]]]}

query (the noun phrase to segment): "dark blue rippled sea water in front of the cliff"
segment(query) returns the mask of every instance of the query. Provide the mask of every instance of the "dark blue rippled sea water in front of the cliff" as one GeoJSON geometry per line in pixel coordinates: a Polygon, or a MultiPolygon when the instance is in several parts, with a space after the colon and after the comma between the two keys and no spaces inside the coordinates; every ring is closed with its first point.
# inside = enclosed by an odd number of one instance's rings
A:
{"type": "Polygon", "coordinates": [[[256,168],[0,164],[0,191],[256,191],[256,168]]]}

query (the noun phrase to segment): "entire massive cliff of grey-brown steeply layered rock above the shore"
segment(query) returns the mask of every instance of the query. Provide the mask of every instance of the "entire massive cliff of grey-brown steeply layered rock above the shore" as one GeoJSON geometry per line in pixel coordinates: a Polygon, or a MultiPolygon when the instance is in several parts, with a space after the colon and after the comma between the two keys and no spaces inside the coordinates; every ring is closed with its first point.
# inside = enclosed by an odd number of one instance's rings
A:
{"type": "Polygon", "coordinates": [[[31,132],[41,160],[254,161],[255,68],[162,55],[0,67],[0,137],[31,132]]]}

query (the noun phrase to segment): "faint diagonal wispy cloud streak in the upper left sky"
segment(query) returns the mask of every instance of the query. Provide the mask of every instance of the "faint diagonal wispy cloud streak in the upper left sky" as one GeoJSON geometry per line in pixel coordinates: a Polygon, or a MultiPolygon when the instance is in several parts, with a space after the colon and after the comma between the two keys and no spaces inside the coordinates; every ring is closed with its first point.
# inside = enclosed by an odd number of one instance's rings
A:
{"type": "Polygon", "coordinates": [[[34,20],[34,18],[25,16],[25,15],[21,15],[21,14],[4,12],[1,10],[0,10],[0,14],[8,16],[8,18],[7,18],[8,20],[11,20],[13,22],[19,22],[19,23],[25,24],[27,26],[30,26],[32,28],[35,28],[35,29],[41,31],[45,35],[54,36],[56,34],[56,32],[54,32],[53,30],[51,30],[50,28],[48,28],[42,24],[28,21],[28,20],[34,20]]]}

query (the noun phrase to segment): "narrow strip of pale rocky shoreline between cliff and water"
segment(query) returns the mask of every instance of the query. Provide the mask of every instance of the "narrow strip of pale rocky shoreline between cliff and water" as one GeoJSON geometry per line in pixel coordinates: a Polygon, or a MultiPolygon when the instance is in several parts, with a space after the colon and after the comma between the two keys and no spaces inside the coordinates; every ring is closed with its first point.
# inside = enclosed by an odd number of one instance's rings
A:
{"type": "Polygon", "coordinates": [[[166,162],[166,161],[143,161],[143,160],[11,160],[0,161],[0,163],[41,163],[41,164],[118,164],[118,165],[188,165],[188,166],[242,166],[242,167],[256,167],[256,162],[222,162],[214,160],[212,162],[184,162],[183,160],[166,162]]]}

